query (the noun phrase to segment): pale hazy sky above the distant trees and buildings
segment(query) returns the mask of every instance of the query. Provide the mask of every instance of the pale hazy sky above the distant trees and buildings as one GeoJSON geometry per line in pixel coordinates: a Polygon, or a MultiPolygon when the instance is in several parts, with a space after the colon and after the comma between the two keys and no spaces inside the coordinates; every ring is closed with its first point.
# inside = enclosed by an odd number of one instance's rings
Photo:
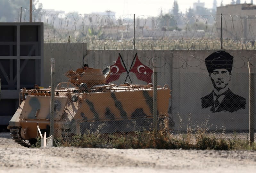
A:
{"type": "MultiPolygon", "coordinates": [[[[251,0],[247,0],[250,3],[251,0]]],[[[255,1],[255,0],[254,0],[255,1]]],[[[68,12],[78,12],[79,14],[90,14],[92,12],[104,12],[111,10],[116,15],[136,14],[157,16],[162,9],[163,13],[169,12],[174,0],[39,0],[43,4],[43,9],[54,9],[68,12]]],[[[193,8],[193,2],[197,0],[178,0],[179,9],[185,13],[193,8]]],[[[205,3],[206,8],[212,8],[213,0],[200,0],[205,3]]],[[[223,0],[223,5],[230,4],[231,0],[223,0]]],[[[220,6],[221,0],[217,0],[220,6]]],[[[244,0],[241,0],[244,3],[244,0]]]]}

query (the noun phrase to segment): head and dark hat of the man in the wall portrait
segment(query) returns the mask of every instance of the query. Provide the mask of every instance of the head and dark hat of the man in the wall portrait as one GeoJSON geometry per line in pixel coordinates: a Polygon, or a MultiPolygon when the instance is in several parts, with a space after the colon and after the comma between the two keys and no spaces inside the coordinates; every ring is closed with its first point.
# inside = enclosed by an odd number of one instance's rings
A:
{"type": "Polygon", "coordinates": [[[225,51],[217,51],[205,58],[212,85],[218,91],[225,88],[231,79],[233,56],[225,51]]]}

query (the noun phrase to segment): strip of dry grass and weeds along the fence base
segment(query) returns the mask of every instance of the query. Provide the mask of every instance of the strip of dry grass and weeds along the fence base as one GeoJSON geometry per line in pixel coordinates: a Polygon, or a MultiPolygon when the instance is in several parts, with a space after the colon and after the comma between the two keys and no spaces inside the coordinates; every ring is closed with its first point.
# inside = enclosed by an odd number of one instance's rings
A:
{"type": "Polygon", "coordinates": [[[188,129],[184,134],[173,134],[168,129],[129,133],[85,133],[73,136],[70,140],[59,140],[62,146],[87,148],[155,148],[155,149],[200,149],[200,150],[256,150],[255,142],[232,138],[218,137],[203,128],[193,132],[188,129]]]}

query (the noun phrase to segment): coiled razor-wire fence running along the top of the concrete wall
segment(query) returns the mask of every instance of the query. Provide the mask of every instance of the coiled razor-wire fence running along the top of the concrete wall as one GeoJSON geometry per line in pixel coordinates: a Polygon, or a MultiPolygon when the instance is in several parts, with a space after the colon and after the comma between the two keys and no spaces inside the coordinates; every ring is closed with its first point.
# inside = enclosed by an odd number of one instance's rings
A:
{"type": "MultiPolygon", "coordinates": [[[[255,16],[88,15],[32,11],[44,22],[44,42],[86,42],[91,50],[256,49],[255,16]]],[[[29,21],[21,8],[19,22],[29,21]]]]}

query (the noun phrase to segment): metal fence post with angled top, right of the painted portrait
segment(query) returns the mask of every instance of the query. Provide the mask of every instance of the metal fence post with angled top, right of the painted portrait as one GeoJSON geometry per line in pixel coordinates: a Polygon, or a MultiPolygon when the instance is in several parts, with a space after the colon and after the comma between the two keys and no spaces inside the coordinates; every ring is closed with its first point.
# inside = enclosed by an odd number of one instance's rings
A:
{"type": "Polygon", "coordinates": [[[254,73],[251,72],[250,63],[248,61],[249,70],[249,134],[250,144],[254,142],[254,73]]]}

